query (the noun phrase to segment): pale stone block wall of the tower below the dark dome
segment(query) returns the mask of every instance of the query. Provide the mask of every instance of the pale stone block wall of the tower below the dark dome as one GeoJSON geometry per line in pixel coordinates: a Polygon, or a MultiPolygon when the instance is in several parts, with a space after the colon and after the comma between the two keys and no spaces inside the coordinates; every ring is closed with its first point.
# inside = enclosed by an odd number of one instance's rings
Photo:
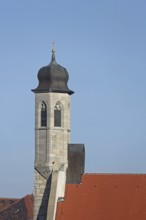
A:
{"type": "Polygon", "coordinates": [[[70,95],[66,93],[35,94],[35,190],[34,220],[45,220],[49,201],[51,175],[58,171],[55,201],[64,196],[68,144],[70,143],[70,95]],[[41,126],[41,104],[47,107],[47,125],[41,126]],[[54,109],[61,108],[61,126],[54,126],[54,109]]]}

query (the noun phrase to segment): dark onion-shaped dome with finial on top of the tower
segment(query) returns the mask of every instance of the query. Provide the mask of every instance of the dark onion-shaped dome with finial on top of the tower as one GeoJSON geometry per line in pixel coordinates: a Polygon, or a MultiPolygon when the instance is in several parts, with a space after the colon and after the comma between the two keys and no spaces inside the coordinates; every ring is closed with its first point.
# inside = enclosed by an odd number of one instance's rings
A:
{"type": "Polygon", "coordinates": [[[40,92],[58,92],[73,94],[74,92],[68,88],[69,74],[67,70],[57,64],[55,60],[55,50],[52,50],[52,60],[49,65],[42,67],[38,72],[39,85],[32,91],[40,92]]]}

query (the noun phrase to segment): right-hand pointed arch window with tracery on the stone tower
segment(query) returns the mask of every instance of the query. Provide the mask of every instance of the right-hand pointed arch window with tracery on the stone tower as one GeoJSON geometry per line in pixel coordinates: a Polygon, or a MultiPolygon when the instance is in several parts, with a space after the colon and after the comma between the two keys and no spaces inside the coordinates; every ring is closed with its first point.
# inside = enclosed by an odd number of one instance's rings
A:
{"type": "Polygon", "coordinates": [[[62,125],[62,105],[60,101],[57,101],[54,108],[54,126],[61,127],[61,125],[62,125]]]}

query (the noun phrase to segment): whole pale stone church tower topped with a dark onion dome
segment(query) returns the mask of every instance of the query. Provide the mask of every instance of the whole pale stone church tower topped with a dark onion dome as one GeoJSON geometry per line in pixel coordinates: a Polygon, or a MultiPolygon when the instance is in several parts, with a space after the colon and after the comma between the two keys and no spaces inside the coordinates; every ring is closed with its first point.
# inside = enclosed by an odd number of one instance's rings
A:
{"type": "Polygon", "coordinates": [[[70,96],[67,70],[57,64],[55,50],[49,65],[38,72],[35,93],[34,220],[54,220],[56,203],[64,197],[68,144],[70,143],[70,96]],[[49,214],[48,214],[49,213],[49,214]]]}

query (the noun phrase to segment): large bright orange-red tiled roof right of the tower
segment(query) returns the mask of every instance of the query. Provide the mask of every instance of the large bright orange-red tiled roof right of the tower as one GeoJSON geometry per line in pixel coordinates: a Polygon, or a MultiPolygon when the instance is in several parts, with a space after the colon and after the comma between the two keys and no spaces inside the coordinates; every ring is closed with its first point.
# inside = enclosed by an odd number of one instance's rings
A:
{"type": "Polygon", "coordinates": [[[146,174],[84,174],[66,185],[56,220],[146,220],[146,174]]]}

